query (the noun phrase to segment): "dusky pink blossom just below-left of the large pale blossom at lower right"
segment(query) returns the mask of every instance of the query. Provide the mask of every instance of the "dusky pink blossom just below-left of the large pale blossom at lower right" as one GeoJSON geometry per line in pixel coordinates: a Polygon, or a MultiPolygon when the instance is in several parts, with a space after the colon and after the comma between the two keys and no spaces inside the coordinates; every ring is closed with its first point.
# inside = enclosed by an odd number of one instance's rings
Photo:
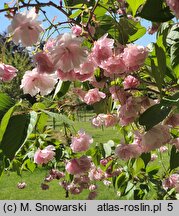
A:
{"type": "Polygon", "coordinates": [[[137,158],[142,153],[142,148],[138,144],[120,144],[115,150],[116,156],[122,160],[137,158]]]}

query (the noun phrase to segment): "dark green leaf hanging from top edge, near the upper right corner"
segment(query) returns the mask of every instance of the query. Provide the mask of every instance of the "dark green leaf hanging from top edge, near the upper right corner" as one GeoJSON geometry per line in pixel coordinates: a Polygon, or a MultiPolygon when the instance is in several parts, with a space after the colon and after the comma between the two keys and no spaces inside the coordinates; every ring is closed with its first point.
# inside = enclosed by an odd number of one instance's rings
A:
{"type": "Polygon", "coordinates": [[[163,0],[147,0],[137,15],[152,22],[166,22],[174,18],[163,0]]]}

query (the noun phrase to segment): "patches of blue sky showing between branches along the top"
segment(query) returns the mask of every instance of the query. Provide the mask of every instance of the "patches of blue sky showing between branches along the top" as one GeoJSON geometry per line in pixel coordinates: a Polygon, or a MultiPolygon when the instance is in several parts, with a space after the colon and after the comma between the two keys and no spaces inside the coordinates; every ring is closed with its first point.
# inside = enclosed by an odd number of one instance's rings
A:
{"type": "MultiPolygon", "coordinates": [[[[59,0],[53,0],[55,3],[59,4],[59,0]]],[[[0,0],[0,9],[4,8],[4,3],[7,2],[12,2],[12,0],[0,0]]],[[[43,2],[48,2],[48,0],[44,0],[43,2]]],[[[56,18],[56,22],[63,22],[65,21],[65,17],[59,13],[59,11],[57,11],[54,8],[44,8],[46,10],[46,14],[49,17],[50,20],[52,20],[54,18],[54,16],[57,16],[56,18]]],[[[5,16],[5,13],[0,13],[0,33],[2,33],[3,31],[7,31],[7,26],[10,24],[10,20],[7,19],[5,16]]],[[[39,15],[39,20],[43,20],[44,17],[42,16],[42,13],[39,15]]],[[[146,28],[148,28],[151,23],[149,21],[142,21],[142,25],[144,25],[146,28]]],[[[47,23],[43,23],[43,27],[47,27],[48,24],[47,23]]],[[[63,32],[65,31],[65,29],[63,30],[63,32]]],[[[139,45],[143,45],[146,46],[148,45],[150,42],[154,42],[155,41],[155,35],[149,35],[149,34],[145,34],[145,36],[143,36],[141,39],[139,39],[136,43],[139,45]]]]}

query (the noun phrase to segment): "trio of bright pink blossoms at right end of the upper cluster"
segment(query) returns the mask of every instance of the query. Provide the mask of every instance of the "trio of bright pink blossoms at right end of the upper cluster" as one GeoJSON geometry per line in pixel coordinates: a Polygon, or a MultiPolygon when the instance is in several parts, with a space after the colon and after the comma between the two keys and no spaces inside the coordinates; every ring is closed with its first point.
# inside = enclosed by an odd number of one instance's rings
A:
{"type": "Polygon", "coordinates": [[[130,44],[114,49],[114,40],[107,38],[107,34],[94,43],[90,54],[93,61],[104,69],[107,77],[138,70],[147,55],[147,48],[138,45],[130,44]]]}

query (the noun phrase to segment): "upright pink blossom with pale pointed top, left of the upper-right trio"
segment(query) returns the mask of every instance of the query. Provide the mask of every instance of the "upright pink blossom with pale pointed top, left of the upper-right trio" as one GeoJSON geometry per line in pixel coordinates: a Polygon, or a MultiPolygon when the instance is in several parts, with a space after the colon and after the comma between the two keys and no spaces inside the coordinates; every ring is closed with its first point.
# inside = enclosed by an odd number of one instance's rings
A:
{"type": "Polygon", "coordinates": [[[101,66],[101,63],[107,60],[113,55],[113,44],[114,40],[107,38],[107,34],[99,38],[95,43],[92,49],[91,58],[98,65],[101,66]]]}

